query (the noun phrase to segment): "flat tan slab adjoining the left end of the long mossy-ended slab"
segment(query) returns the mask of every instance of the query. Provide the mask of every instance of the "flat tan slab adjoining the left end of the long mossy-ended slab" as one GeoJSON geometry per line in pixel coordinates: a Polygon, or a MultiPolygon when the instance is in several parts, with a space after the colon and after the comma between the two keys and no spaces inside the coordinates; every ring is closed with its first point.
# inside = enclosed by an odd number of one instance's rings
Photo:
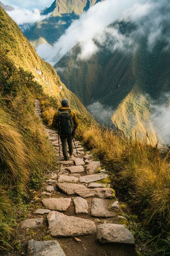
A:
{"type": "Polygon", "coordinates": [[[74,184],[74,183],[58,183],[57,187],[60,188],[67,195],[72,195],[76,193],[76,190],[86,189],[85,185],[82,184],[74,184]]]}

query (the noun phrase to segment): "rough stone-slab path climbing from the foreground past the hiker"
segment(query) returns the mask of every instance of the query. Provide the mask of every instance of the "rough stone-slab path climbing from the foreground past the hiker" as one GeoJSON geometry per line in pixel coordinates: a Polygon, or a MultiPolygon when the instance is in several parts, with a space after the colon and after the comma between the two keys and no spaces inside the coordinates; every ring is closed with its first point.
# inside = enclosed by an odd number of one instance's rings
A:
{"type": "MultiPolygon", "coordinates": [[[[41,107],[35,100],[36,114],[41,107]]],[[[76,141],[79,156],[59,157],[56,131],[44,126],[56,153],[57,169],[49,173],[40,204],[32,218],[21,221],[21,230],[48,229],[49,241],[28,242],[28,256],[136,255],[134,238],[125,225],[109,177],[100,162],[76,141]],[[53,240],[52,240],[53,239],[53,240]]],[[[37,231],[38,232],[38,231],[37,231]]]]}

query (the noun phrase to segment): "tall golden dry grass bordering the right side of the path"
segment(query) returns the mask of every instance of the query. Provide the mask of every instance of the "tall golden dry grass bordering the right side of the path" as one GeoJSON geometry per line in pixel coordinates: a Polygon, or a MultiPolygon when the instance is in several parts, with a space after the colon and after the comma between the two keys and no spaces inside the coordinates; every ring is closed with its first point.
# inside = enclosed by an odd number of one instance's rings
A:
{"type": "Polygon", "coordinates": [[[133,193],[134,207],[141,209],[146,224],[155,234],[170,230],[170,163],[157,148],[130,142],[99,126],[82,124],[77,135],[96,157],[117,174],[120,187],[133,193]]]}

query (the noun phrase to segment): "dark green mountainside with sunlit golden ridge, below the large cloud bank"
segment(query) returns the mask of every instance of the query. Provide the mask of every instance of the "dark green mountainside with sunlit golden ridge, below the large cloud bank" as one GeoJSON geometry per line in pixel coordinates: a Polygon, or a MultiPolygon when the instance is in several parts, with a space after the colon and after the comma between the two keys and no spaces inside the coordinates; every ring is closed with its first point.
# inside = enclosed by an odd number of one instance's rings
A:
{"type": "Polygon", "coordinates": [[[129,137],[137,131],[140,138],[147,131],[156,143],[150,103],[164,102],[160,95],[170,90],[170,51],[165,46],[162,39],[148,50],[143,36],[134,52],[111,52],[103,47],[90,60],[77,60],[79,47],[75,46],[72,54],[64,56],[55,68],[86,107],[96,101],[112,107],[112,113],[116,110],[112,121],[118,129],[129,137]]]}

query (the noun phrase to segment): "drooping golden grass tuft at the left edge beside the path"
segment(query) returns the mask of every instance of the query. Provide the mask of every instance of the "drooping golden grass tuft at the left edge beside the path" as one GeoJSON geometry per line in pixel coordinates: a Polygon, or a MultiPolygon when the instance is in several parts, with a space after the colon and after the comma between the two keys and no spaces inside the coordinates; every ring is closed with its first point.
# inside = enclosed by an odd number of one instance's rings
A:
{"type": "Polygon", "coordinates": [[[27,148],[10,116],[0,109],[1,183],[22,187],[28,180],[27,148]]]}

